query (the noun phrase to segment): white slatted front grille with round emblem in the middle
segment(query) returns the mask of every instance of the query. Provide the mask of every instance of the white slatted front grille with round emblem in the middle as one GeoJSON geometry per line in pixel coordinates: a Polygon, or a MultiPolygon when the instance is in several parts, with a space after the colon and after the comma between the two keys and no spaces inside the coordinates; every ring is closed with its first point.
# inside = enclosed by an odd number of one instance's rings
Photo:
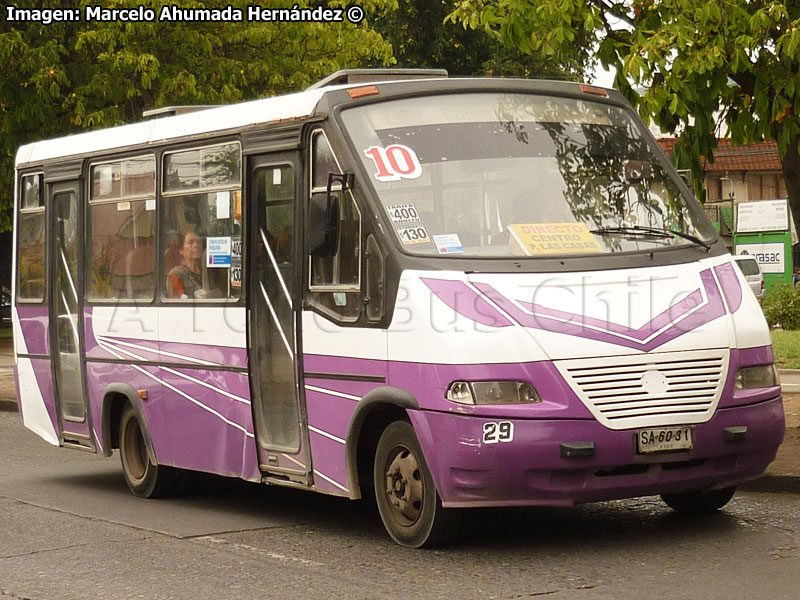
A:
{"type": "Polygon", "coordinates": [[[563,360],[556,366],[601,423],[629,429],[709,420],[728,360],[729,350],[718,348],[563,360]]]}

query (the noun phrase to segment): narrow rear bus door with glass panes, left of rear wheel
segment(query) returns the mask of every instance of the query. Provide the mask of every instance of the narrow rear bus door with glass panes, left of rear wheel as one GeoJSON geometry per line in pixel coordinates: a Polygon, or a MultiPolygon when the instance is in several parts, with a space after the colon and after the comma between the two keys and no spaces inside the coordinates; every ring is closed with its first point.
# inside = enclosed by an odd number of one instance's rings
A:
{"type": "Polygon", "coordinates": [[[61,442],[94,449],[80,350],[80,189],[78,181],[49,186],[55,233],[50,252],[50,339],[61,442]]]}

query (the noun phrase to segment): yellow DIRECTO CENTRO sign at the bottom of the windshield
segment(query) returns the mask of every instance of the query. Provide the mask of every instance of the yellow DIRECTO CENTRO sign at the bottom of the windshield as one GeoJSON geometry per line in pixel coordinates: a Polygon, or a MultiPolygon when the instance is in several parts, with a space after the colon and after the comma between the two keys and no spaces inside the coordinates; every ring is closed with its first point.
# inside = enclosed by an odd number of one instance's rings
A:
{"type": "Polygon", "coordinates": [[[509,225],[511,251],[518,256],[602,252],[586,223],[517,223],[509,225]]]}

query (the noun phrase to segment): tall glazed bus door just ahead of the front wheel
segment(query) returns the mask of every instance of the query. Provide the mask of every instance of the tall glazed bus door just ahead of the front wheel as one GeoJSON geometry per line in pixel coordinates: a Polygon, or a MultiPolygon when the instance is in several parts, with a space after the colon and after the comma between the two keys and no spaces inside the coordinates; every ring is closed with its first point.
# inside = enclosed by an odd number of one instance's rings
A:
{"type": "Polygon", "coordinates": [[[294,154],[253,157],[250,196],[250,377],[258,457],[267,479],[310,484],[298,387],[294,235],[301,181],[294,154]]]}

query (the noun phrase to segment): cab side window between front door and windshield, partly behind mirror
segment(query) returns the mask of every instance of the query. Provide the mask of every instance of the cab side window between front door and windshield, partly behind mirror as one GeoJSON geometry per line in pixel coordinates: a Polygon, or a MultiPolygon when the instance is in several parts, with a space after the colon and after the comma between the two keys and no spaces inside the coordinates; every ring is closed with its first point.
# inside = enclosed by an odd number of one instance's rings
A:
{"type": "MultiPolygon", "coordinates": [[[[322,131],[311,138],[311,193],[327,190],[328,174],[341,173],[328,139],[322,131]]],[[[310,257],[310,299],[324,312],[354,320],[361,310],[361,213],[350,191],[332,190],[339,199],[339,236],[336,252],[310,257]]]]}

